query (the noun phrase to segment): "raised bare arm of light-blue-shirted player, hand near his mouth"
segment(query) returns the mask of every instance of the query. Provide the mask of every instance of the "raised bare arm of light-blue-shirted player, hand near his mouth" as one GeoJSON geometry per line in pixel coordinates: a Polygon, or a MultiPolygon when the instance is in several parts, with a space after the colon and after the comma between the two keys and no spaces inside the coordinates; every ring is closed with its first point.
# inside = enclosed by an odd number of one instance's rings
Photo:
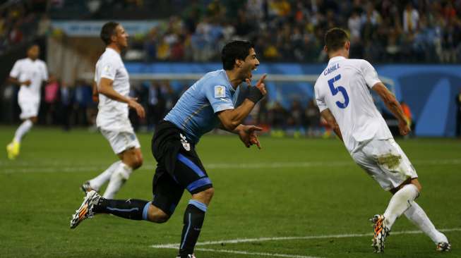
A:
{"type": "Polygon", "coordinates": [[[267,75],[261,76],[255,86],[251,86],[250,80],[247,79],[246,83],[249,87],[249,94],[246,96],[244,102],[238,106],[237,109],[227,109],[217,113],[217,116],[220,118],[222,124],[222,129],[233,132],[237,126],[244,121],[246,116],[249,115],[255,104],[268,94],[264,85],[264,79],[266,76],[267,75]]]}

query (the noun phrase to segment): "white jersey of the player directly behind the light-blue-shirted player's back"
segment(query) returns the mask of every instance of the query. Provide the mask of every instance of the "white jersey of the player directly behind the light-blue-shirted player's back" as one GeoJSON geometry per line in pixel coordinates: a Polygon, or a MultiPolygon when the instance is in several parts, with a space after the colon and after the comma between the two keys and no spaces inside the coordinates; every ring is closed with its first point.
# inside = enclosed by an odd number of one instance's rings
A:
{"type": "MultiPolygon", "coordinates": [[[[119,94],[128,97],[130,82],[128,72],[121,60],[121,56],[114,49],[106,48],[96,63],[95,82],[100,87],[101,78],[112,80],[112,87],[119,94]]],[[[105,130],[131,130],[128,120],[128,104],[99,94],[100,103],[97,108],[96,123],[98,128],[105,130]]]]}

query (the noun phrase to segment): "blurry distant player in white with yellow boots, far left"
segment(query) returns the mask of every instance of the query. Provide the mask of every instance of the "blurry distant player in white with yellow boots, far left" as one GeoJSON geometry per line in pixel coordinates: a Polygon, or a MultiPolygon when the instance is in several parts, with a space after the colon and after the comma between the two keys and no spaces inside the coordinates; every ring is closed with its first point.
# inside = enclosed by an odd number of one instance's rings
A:
{"type": "Polygon", "coordinates": [[[40,47],[33,44],[28,48],[25,59],[14,63],[9,81],[20,86],[18,104],[20,119],[23,120],[14,134],[13,141],[6,146],[8,159],[16,159],[19,155],[20,141],[28,133],[34,123],[37,123],[37,114],[40,107],[40,88],[42,82],[48,80],[47,64],[38,59],[40,47]]]}

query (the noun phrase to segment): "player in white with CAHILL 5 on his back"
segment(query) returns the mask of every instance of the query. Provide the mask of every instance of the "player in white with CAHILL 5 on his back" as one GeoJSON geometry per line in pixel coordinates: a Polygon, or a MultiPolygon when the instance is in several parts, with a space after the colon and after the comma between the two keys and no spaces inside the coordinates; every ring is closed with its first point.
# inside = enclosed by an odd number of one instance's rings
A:
{"type": "Polygon", "coordinates": [[[325,51],[330,61],[314,87],[321,116],[343,140],[352,159],[384,190],[393,193],[384,214],[372,219],[375,252],[383,252],[385,237],[402,214],[429,235],[437,245],[436,250],[448,251],[450,244],[446,236],[436,230],[424,210],[414,202],[421,192],[417,173],[390,134],[369,89],[375,90],[392,111],[402,135],[409,133],[407,119],[373,66],[363,59],[348,59],[349,47],[344,30],[328,30],[325,51]]]}

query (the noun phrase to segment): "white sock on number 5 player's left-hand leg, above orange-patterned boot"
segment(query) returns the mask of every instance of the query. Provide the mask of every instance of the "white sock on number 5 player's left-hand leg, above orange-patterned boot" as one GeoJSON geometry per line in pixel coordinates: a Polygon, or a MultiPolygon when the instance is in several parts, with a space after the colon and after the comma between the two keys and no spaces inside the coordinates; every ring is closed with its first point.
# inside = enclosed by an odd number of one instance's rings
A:
{"type": "Polygon", "coordinates": [[[404,185],[395,192],[383,214],[385,226],[392,228],[395,220],[411,206],[418,195],[418,188],[413,184],[404,185]]]}

